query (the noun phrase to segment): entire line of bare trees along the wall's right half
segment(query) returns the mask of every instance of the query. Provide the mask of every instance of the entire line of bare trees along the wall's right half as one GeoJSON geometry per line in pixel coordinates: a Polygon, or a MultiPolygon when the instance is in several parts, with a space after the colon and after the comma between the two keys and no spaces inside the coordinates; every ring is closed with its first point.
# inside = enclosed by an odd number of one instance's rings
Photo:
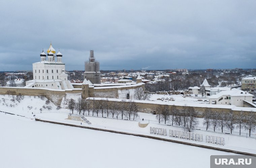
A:
{"type": "MultiPolygon", "coordinates": [[[[184,106],[182,109],[178,109],[175,106],[169,105],[158,105],[154,111],[156,119],[158,122],[167,121],[173,125],[173,123],[184,126],[189,132],[192,131],[198,122],[198,112],[194,110],[194,107],[184,106]]],[[[223,129],[227,128],[230,130],[231,134],[234,128],[239,129],[239,134],[241,135],[241,129],[249,131],[249,136],[251,132],[256,129],[256,114],[253,111],[245,113],[240,111],[238,114],[234,114],[233,110],[226,111],[213,111],[211,108],[205,108],[203,111],[203,126],[208,128],[212,127],[214,132],[216,129],[220,128],[222,133],[223,129]]]]}

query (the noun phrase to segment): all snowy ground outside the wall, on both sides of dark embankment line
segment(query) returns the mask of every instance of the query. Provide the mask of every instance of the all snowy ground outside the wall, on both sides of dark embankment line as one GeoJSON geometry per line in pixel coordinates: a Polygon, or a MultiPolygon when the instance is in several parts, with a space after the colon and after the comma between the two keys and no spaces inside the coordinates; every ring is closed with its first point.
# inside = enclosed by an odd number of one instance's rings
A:
{"type": "MultiPolygon", "coordinates": [[[[33,115],[43,120],[81,124],[79,121],[67,120],[70,113],[68,109],[57,110],[53,103],[45,104],[46,98],[42,100],[39,97],[24,96],[20,103],[11,99],[12,96],[0,95],[0,110],[24,117],[0,112],[0,131],[3,137],[0,143],[4,144],[0,146],[1,167],[185,167],[188,164],[190,167],[209,167],[210,155],[233,155],[147,138],[35,122],[33,115]],[[52,106],[52,109],[43,106],[52,106]]],[[[92,123],[83,123],[86,126],[145,135],[152,135],[150,127],[185,131],[182,127],[167,126],[169,123],[159,125],[156,116],[148,113],[139,113],[135,121],[120,120],[120,116],[119,120],[88,116],[88,113],[86,118],[92,123]],[[149,122],[146,128],[138,127],[142,118],[144,122],[149,122]]],[[[200,124],[199,127],[203,126],[200,124]]],[[[204,140],[205,135],[224,137],[225,145],[182,141],[256,153],[255,138],[204,130],[194,130],[194,133],[203,134],[204,140]]]]}

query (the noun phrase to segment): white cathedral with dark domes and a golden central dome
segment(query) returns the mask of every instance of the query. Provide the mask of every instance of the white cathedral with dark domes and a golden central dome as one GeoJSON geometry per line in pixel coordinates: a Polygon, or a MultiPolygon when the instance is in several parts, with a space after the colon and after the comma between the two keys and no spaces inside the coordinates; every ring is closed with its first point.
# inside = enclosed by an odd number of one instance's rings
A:
{"type": "Polygon", "coordinates": [[[40,54],[41,61],[33,63],[33,80],[26,81],[26,88],[49,88],[67,90],[74,89],[65,73],[65,64],[62,63],[62,54],[50,44],[46,54],[40,54]]]}

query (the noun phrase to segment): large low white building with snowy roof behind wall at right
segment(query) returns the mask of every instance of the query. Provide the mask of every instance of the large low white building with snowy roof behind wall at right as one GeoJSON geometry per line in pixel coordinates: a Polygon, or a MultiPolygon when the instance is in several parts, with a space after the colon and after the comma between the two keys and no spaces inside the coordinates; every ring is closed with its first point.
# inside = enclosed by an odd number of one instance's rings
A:
{"type": "Polygon", "coordinates": [[[209,97],[210,104],[235,105],[238,107],[256,107],[252,103],[253,95],[239,89],[222,91],[209,97]]]}

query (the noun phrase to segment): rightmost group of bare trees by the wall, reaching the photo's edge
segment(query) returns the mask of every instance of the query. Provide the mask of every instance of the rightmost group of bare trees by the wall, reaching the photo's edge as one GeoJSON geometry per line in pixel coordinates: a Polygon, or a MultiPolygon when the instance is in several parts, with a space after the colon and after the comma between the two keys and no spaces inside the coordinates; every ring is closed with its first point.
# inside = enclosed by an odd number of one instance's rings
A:
{"type": "Polygon", "coordinates": [[[250,111],[245,113],[244,111],[239,111],[238,114],[234,114],[233,110],[225,111],[212,111],[210,108],[205,108],[203,112],[203,125],[206,126],[206,130],[209,127],[213,127],[214,131],[216,128],[227,128],[232,131],[234,128],[239,129],[239,135],[241,135],[241,129],[249,131],[249,136],[251,132],[256,128],[256,115],[255,112],[250,111]]]}

